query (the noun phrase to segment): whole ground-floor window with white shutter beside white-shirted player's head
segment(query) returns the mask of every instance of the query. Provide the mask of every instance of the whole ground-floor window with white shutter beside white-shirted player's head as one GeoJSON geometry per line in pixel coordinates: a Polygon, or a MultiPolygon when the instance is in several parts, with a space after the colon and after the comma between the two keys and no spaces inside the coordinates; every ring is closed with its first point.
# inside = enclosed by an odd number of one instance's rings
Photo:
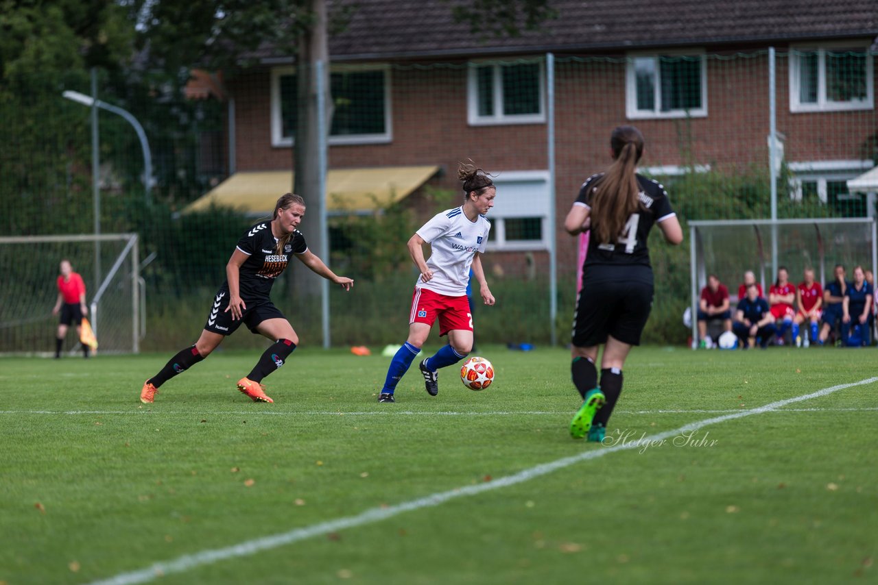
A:
{"type": "Polygon", "coordinates": [[[490,250],[549,249],[549,173],[507,171],[493,178],[497,199],[488,212],[490,250]]]}

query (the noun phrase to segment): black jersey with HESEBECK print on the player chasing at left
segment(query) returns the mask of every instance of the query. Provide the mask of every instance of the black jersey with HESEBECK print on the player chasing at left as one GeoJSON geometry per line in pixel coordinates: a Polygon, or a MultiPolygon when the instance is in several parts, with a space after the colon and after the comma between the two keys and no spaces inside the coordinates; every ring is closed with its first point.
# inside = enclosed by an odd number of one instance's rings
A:
{"type": "MultiPolygon", "coordinates": [[[[238,240],[237,248],[248,254],[239,270],[241,298],[268,297],[271,285],[284,272],[291,253],[306,253],[305,236],[299,230],[292,233],[283,253],[277,253],[277,239],[271,233],[271,222],[266,221],[250,227],[238,240]]],[[[224,286],[228,288],[228,281],[224,286]]]]}

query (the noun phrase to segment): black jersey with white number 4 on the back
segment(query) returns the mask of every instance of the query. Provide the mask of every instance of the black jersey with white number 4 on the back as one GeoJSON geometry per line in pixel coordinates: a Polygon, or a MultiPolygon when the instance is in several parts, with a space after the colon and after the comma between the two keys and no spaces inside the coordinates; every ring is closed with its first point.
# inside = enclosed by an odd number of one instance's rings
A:
{"type": "MultiPolygon", "coordinates": [[[[592,175],[579,189],[579,196],[574,204],[585,205],[591,209],[594,195],[594,182],[603,174],[592,175]]],[[[622,235],[615,242],[599,242],[594,237],[594,229],[588,239],[588,253],[585,266],[593,265],[641,265],[650,266],[650,251],[646,247],[646,239],[650,235],[652,225],[674,214],[665,188],[658,182],[637,175],[640,186],[640,209],[631,214],[623,228],[622,235]]],[[[592,216],[594,228],[594,216],[592,216]]]]}

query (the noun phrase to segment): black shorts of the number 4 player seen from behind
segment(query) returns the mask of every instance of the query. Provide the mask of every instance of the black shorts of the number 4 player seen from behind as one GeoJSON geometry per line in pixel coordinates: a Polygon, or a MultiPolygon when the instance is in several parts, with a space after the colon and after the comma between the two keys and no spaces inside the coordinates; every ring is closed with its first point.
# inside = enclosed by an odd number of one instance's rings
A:
{"type": "Polygon", "coordinates": [[[626,267],[626,271],[586,268],[573,314],[573,346],[598,346],[610,335],[631,346],[640,345],[652,309],[652,271],[640,266],[626,267]]]}

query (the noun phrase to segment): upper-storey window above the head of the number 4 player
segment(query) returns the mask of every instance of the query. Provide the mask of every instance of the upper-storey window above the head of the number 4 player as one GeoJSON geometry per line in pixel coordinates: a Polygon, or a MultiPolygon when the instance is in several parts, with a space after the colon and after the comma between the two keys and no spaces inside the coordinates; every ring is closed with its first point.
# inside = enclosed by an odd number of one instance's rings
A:
{"type": "Polygon", "coordinates": [[[704,117],[704,55],[635,55],[628,61],[628,118],[704,117]]]}

